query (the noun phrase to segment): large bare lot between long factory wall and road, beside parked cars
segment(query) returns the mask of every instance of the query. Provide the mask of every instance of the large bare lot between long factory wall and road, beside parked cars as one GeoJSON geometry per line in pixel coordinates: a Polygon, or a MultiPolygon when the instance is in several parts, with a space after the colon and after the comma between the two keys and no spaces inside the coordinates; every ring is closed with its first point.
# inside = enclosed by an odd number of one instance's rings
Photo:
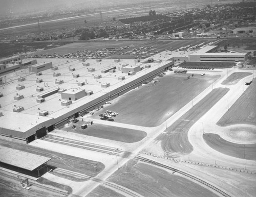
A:
{"type": "Polygon", "coordinates": [[[94,118],[110,109],[119,113],[114,117],[117,122],[155,127],[162,124],[184,105],[190,102],[219,76],[194,75],[187,80],[188,74],[167,72],[160,81],[140,86],[114,100],[113,104],[95,112],[94,118]]]}

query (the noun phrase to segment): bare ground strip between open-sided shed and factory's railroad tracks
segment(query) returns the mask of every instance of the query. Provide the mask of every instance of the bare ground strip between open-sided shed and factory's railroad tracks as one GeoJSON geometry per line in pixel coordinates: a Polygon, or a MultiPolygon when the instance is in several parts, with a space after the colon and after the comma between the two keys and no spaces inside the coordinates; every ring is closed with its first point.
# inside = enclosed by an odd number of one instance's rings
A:
{"type": "Polygon", "coordinates": [[[105,167],[104,164],[100,162],[64,155],[61,153],[40,149],[26,144],[18,144],[5,140],[0,140],[0,145],[11,147],[12,149],[17,149],[20,151],[33,153],[36,155],[50,157],[52,159],[47,162],[47,164],[50,166],[76,171],[77,173],[85,174],[92,177],[98,175],[100,171],[102,171],[105,167]]]}

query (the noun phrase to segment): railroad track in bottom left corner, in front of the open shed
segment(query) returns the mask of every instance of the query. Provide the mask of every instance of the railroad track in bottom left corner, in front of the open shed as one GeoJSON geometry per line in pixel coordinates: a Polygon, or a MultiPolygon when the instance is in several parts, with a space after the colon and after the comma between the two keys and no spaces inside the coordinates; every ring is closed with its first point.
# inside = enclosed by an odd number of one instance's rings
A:
{"type": "MultiPolygon", "coordinates": [[[[2,176],[4,176],[4,177],[8,177],[8,178],[10,178],[10,179],[14,179],[14,180],[20,182],[20,179],[16,177],[17,175],[14,175],[14,174],[13,174],[13,175],[8,175],[9,173],[6,174],[6,173],[4,173],[4,172],[1,171],[1,170],[0,170],[0,174],[1,174],[2,176]]],[[[39,187],[39,188],[41,188],[41,189],[46,189],[46,190],[55,192],[55,193],[57,193],[57,194],[69,195],[68,192],[64,192],[64,191],[61,191],[61,190],[58,190],[58,189],[54,189],[54,188],[52,188],[52,187],[48,187],[47,185],[42,185],[42,184],[40,184],[40,183],[37,183],[35,180],[29,179],[29,184],[32,185],[32,186],[39,187]]],[[[32,187],[32,189],[33,189],[33,187],[32,187]]]]}

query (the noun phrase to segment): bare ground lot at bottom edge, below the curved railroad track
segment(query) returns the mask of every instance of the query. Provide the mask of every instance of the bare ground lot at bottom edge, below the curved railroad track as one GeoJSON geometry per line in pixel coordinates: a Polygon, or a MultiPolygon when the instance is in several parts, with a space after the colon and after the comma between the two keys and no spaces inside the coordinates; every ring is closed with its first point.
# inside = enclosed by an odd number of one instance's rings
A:
{"type": "Polygon", "coordinates": [[[186,178],[135,160],[123,165],[108,181],[143,196],[217,196],[186,178]]]}

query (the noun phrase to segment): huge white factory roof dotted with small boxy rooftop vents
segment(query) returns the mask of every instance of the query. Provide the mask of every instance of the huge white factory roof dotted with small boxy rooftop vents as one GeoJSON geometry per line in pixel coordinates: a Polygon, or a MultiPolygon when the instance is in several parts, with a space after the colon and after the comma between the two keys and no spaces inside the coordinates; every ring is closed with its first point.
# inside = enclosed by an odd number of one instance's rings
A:
{"type": "MultiPolygon", "coordinates": [[[[32,60],[32,59],[31,59],[32,60]]],[[[46,61],[45,58],[36,59],[39,64],[44,64],[46,61]]],[[[101,62],[96,62],[95,59],[88,59],[87,62],[90,63],[89,66],[84,67],[83,62],[80,62],[76,59],[47,59],[47,62],[52,62],[53,66],[58,66],[58,72],[61,73],[59,77],[53,77],[54,70],[47,69],[41,71],[41,76],[36,76],[35,73],[29,73],[29,69],[17,70],[16,72],[6,73],[7,85],[0,87],[0,92],[3,93],[3,96],[0,97],[0,111],[3,112],[4,116],[0,117],[0,130],[1,128],[6,128],[10,130],[15,130],[19,132],[25,132],[30,129],[40,129],[34,128],[36,125],[41,124],[40,127],[44,126],[44,122],[52,122],[53,118],[61,118],[63,114],[66,114],[71,111],[75,111],[77,108],[86,105],[87,103],[97,99],[98,97],[109,93],[110,91],[119,88],[124,83],[133,81],[142,75],[145,75],[146,72],[150,70],[157,69],[160,66],[163,66],[171,61],[163,61],[161,63],[152,62],[151,68],[143,69],[136,73],[134,76],[126,76],[125,80],[120,81],[118,77],[124,76],[121,72],[122,64],[129,64],[134,66],[145,65],[146,60],[141,60],[139,63],[135,63],[134,60],[124,60],[121,59],[120,62],[114,62],[113,59],[102,59],[101,62]],[[70,71],[69,67],[75,67],[75,71],[70,71]],[[101,70],[116,66],[115,73],[101,73],[101,70]],[[89,72],[87,68],[95,68],[95,71],[89,72]],[[120,68],[120,70],[118,69],[120,68]],[[79,73],[79,78],[73,78],[72,73],[79,73]],[[95,75],[101,75],[102,78],[94,79],[95,75]],[[18,82],[17,79],[20,76],[25,77],[26,80],[18,82]],[[42,79],[41,83],[36,83],[36,79],[42,79]],[[12,81],[10,81],[12,79],[12,81]],[[62,84],[55,84],[56,80],[63,80],[62,84]],[[83,86],[78,86],[78,82],[86,82],[83,86]],[[102,88],[101,84],[110,83],[111,86],[108,88],[102,88]],[[16,90],[17,85],[24,85],[25,88],[22,90],[16,90]],[[43,87],[44,90],[37,92],[36,88],[43,87]],[[37,103],[37,95],[48,92],[56,88],[65,88],[68,93],[72,93],[73,89],[75,91],[83,90],[92,90],[92,95],[87,95],[82,97],[77,101],[73,101],[68,107],[62,106],[60,93],[54,93],[50,96],[45,97],[45,102],[37,103]],[[79,89],[77,89],[79,88],[79,89]],[[24,99],[18,101],[14,100],[13,97],[16,93],[23,95],[24,99]],[[24,107],[24,111],[13,112],[15,106],[24,107]],[[39,112],[48,111],[49,115],[39,116],[39,112]],[[3,121],[2,121],[3,120],[3,121]]],[[[48,125],[50,126],[50,125],[48,125]]],[[[1,132],[1,131],[0,131],[1,132]]]]}

